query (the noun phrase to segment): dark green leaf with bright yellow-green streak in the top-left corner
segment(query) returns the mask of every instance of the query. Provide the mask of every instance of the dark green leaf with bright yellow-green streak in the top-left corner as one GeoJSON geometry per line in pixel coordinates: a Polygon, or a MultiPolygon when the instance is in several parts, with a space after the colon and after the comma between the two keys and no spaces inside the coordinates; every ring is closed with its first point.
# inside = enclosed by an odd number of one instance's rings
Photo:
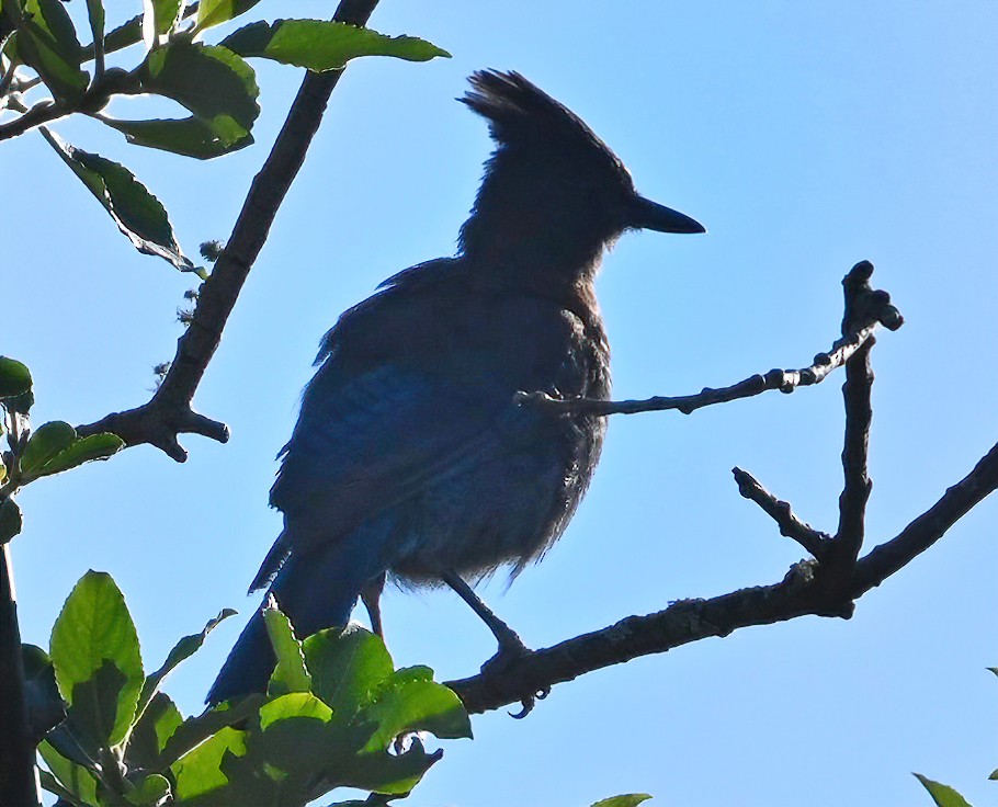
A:
{"type": "Polygon", "coordinates": [[[24,0],[18,53],[57,100],[72,105],[82,100],[89,77],[80,69],[80,41],[59,0],[24,0]]]}

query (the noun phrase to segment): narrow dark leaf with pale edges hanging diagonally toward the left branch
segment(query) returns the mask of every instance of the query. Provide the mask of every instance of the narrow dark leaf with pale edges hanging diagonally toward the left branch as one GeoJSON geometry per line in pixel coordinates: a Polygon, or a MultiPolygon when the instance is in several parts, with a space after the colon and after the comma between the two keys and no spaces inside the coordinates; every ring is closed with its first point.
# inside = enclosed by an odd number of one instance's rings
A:
{"type": "Polygon", "coordinates": [[[194,271],[183,254],[166,208],[121,163],[83,151],[42,128],[42,136],[83,182],[139,252],[157,255],[181,272],[194,271]]]}

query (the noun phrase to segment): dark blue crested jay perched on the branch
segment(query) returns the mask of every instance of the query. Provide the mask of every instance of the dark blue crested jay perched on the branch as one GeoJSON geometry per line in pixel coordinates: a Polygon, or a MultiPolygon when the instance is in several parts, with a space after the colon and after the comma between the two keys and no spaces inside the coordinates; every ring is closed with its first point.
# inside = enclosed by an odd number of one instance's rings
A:
{"type": "MultiPolygon", "coordinates": [[[[326,333],[270,503],[284,528],[250,592],[269,588],[304,638],[363,600],[382,633],[386,579],[449,586],[499,641],[517,635],[474,586],[510,580],[565,531],[605,419],[557,417],[521,393],[610,396],[593,281],[627,230],[704,232],[639,195],[624,163],[518,72],[479,70],[457,99],[486,120],[485,163],[456,253],[406,269],[326,333]]],[[[208,704],[263,692],[275,661],[251,616],[208,704]]]]}

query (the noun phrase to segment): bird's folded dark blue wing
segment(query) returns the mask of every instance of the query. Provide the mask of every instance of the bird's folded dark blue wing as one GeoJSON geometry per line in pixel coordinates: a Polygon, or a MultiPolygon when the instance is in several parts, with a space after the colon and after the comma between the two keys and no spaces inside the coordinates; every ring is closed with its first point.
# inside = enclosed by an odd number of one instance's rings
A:
{"type": "Polygon", "coordinates": [[[476,453],[489,454],[506,428],[499,421],[517,414],[504,393],[483,395],[481,388],[395,364],[343,379],[332,365],[309,385],[285,447],[271,490],[285,530],[253,588],[265,584],[290,552],[334,542],[439,484],[476,453]]]}

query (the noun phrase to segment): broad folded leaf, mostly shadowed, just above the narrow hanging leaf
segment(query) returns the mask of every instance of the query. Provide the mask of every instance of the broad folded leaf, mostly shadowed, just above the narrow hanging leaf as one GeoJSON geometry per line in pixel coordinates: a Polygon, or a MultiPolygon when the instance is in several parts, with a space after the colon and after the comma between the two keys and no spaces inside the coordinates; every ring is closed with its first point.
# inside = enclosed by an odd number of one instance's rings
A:
{"type": "Polygon", "coordinates": [[[252,143],[260,114],[252,68],[224,47],[171,43],[149,53],[139,71],[145,92],[170,98],[192,113],[181,121],[101,121],[129,143],[208,159],[252,143]]]}

